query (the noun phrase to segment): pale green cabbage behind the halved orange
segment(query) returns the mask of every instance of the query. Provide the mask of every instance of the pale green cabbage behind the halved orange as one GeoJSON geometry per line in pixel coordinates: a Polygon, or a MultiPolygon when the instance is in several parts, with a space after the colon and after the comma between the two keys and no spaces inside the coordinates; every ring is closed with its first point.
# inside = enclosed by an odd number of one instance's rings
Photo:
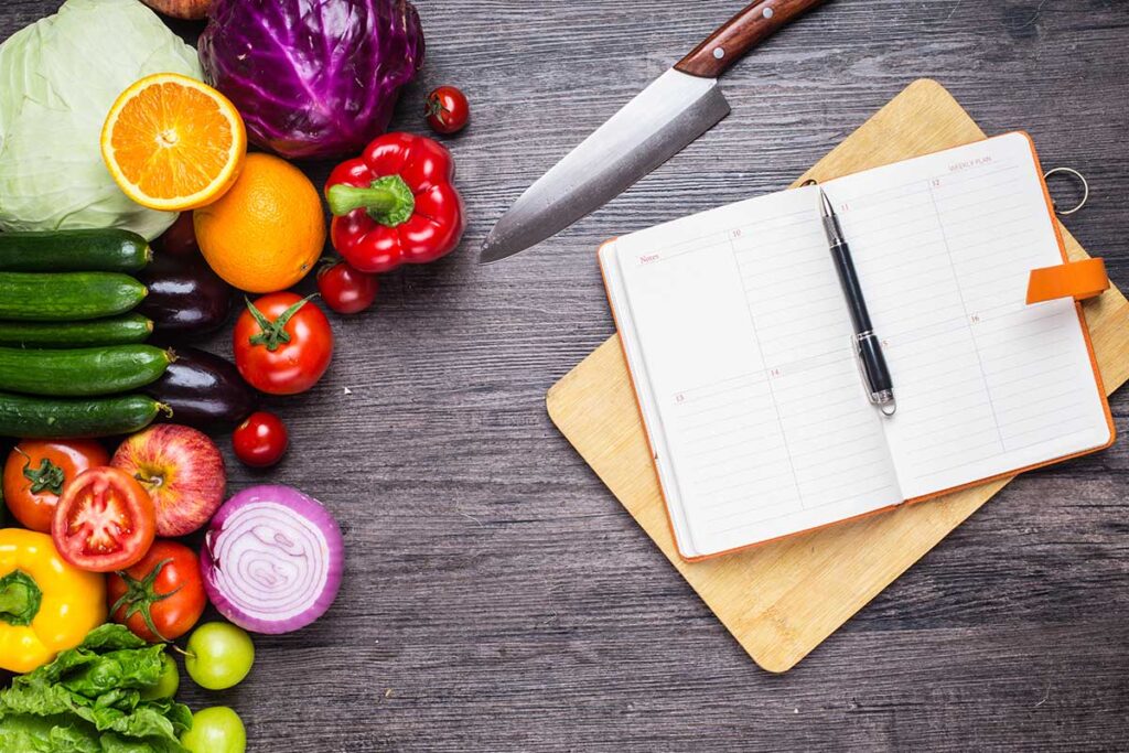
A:
{"type": "Polygon", "coordinates": [[[202,79],[195,50],[139,0],[68,0],[0,45],[0,229],[152,238],[172,225],[119,190],[98,145],[117,95],[163,72],[202,79]]]}

